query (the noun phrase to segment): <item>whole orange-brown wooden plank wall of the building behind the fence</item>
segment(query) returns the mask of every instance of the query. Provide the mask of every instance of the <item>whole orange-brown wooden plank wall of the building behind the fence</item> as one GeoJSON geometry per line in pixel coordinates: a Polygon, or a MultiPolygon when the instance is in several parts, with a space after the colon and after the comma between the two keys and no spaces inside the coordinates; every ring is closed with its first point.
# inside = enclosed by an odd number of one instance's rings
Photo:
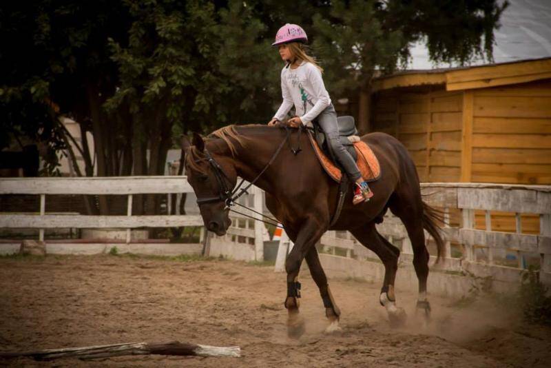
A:
{"type": "MultiPolygon", "coordinates": [[[[422,182],[551,184],[551,80],[447,92],[444,86],[382,90],[372,130],[408,148],[422,182]]],[[[459,216],[451,213],[453,223],[459,216]]],[[[539,232],[539,217],[522,214],[539,232]]],[[[515,232],[512,213],[492,212],[492,229],[515,232]]],[[[486,228],[484,212],[475,227],[486,228]]]]}

